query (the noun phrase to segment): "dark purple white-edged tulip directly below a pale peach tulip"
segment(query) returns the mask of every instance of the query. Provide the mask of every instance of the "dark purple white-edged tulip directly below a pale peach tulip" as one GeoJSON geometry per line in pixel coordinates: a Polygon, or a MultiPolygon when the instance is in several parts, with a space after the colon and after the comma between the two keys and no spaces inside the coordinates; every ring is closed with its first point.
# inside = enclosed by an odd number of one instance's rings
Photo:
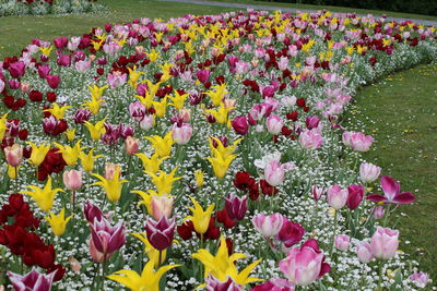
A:
{"type": "Polygon", "coordinates": [[[167,219],[166,216],[163,216],[157,222],[147,219],[145,231],[152,246],[158,251],[169,247],[175,237],[175,218],[167,219]]]}

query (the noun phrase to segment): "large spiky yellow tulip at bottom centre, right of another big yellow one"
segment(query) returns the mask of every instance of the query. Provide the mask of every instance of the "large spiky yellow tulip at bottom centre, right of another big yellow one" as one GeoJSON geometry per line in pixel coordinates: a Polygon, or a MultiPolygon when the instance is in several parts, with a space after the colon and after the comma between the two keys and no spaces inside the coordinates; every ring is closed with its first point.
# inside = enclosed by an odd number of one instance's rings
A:
{"type": "Polygon", "coordinates": [[[235,262],[239,258],[245,258],[246,255],[241,253],[234,253],[229,256],[226,246],[226,240],[224,237],[220,239],[220,247],[217,253],[212,255],[208,250],[201,248],[197,253],[192,254],[192,257],[200,260],[204,267],[204,277],[209,275],[214,276],[221,281],[226,281],[228,277],[233,279],[237,284],[248,284],[251,282],[262,281],[259,278],[249,277],[250,271],[261,262],[258,259],[247,266],[244,270],[238,272],[235,262]]]}

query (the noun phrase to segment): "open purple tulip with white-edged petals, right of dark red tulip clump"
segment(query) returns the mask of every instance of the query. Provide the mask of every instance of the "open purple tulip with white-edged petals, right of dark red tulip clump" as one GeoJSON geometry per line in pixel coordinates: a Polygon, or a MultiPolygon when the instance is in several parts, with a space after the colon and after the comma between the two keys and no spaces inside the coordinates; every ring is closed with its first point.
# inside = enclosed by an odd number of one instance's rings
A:
{"type": "Polygon", "coordinates": [[[104,254],[104,260],[106,260],[110,254],[125,245],[125,225],[118,222],[113,227],[106,218],[102,217],[99,220],[95,218],[93,223],[90,223],[92,242],[95,248],[104,254]]]}

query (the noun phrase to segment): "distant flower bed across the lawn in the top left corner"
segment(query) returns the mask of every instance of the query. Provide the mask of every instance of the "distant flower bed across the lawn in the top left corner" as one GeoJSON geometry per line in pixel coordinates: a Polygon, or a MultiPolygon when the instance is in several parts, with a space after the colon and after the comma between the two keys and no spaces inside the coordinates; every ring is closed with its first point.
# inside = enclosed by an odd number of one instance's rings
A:
{"type": "Polygon", "coordinates": [[[0,0],[0,16],[93,13],[105,9],[97,0],[0,0]]]}

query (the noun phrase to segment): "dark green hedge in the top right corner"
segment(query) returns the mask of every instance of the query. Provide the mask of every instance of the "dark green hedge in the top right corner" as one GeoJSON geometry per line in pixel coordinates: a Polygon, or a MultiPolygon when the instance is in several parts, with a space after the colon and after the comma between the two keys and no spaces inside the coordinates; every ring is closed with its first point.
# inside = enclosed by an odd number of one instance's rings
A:
{"type": "Polygon", "coordinates": [[[276,2],[351,7],[437,15],[437,0],[275,0],[276,2]]]}

